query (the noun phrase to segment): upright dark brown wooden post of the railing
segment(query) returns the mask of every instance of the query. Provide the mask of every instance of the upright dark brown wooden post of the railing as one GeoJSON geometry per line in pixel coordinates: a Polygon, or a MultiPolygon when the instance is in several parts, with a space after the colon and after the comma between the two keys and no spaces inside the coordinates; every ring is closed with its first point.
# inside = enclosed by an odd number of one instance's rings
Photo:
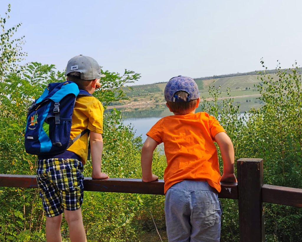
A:
{"type": "Polygon", "coordinates": [[[240,242],[264,242],[263,160],[237,160],[240,242]]]}

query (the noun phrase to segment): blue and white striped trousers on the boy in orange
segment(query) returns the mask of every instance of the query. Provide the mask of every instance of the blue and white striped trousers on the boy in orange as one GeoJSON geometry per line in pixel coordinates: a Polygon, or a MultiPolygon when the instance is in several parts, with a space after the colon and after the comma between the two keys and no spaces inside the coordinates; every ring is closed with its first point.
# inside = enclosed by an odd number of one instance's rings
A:
{"type": "Polygon", "coordinates": [[[206,181],[174,184],[165,195],[168,241],[220,241],[221,214],[218,193],[206,181]]]}

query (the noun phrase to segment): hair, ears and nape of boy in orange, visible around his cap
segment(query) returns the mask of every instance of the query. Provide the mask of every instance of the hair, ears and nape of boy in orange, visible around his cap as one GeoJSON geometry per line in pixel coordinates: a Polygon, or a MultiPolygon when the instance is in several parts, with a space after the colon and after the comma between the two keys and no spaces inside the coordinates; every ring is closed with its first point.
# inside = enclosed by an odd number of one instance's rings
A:
{"type": "Polygon", "coordinates": [[[196,108],[197,99],[186,102],[188,93],[185,91],[178,91],[175,93],[178,99],[184,100],[183,102],[171,102],[167,101],[170,109],[173,113],[188,113],[196,108]]]}

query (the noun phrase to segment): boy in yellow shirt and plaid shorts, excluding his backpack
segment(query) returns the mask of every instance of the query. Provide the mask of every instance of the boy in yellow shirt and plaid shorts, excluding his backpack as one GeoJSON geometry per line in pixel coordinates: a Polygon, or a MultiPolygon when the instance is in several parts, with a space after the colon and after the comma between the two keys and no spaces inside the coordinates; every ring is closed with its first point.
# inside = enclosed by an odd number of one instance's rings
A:
{"type": "MultiPolygon", "coordinates": [[[[75,82],[87,95],[76,98],[72,113],[70,138],[88,129],[92,158],[92,178],[104,179],[108,175],[101,172],[103,150],[103,112],[99,100],[93,97],[100,87],[101,67],[91,57],[75,56],[66,67],[67,80],[75,82]]],[[[37,161],[37,183],[46,213],[46,239],[62,241],[62,213],[68,223],[71,241],[86,241],[81,205],[84,193],[83,165],[87,160],[88,136],[86,132],[64,153],[59,155],[40,155],[37,161]]]]}

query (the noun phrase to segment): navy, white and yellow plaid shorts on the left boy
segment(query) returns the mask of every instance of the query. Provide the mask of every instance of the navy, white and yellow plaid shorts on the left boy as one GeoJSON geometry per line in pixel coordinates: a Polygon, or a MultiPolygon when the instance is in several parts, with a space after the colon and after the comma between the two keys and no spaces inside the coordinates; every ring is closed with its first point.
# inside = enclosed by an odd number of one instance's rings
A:
{"type": "Polygon", "coordinates": [[[82,162],[77,159],[37,161],[37,183],[47,217],[81,208],[84,194],[82,162]]]}

